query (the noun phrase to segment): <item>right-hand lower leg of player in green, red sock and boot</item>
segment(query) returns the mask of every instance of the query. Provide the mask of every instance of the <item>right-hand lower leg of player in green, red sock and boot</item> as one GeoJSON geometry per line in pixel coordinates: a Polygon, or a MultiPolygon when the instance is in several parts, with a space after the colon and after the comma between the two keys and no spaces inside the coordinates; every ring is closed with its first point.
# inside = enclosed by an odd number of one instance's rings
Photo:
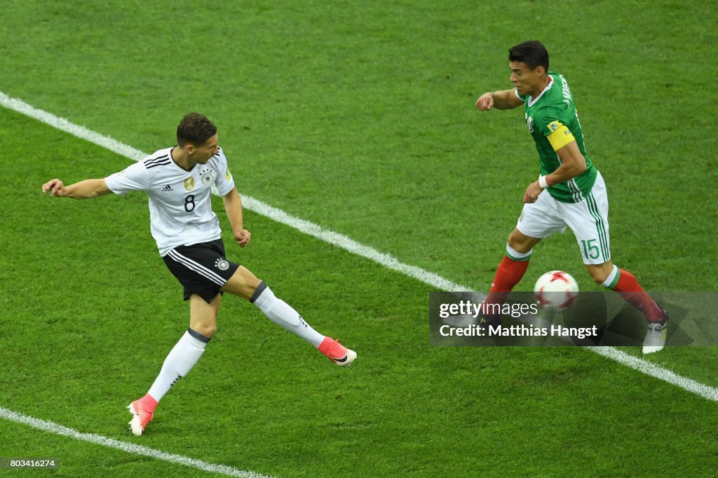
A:
{"type": "Polygon", "coordinates": [[[650,354],[663,349],[668,335],[668,312],[645,293],[635,276],[617,268],[611,261],[587,264],[586,268],[597,284],[616,291],[625,301],[643,312],[648,322],[643,339],[643,353],[650,354]]]}

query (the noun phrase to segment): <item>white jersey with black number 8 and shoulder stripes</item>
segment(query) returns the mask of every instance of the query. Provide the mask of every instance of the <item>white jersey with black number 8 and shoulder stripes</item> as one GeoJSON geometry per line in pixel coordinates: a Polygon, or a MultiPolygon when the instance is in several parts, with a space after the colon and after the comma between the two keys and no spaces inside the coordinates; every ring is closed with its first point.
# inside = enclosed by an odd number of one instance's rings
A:
{"type": "Polygon", "coordinates": [[[149,196],[149,221],[160,256],[178,245],[205,243],[220,238],[220,221],[212,211],[211,188],[220,195],[234,187],[227,158],[220,148],[207,164],[192,171],[177,165],[172,148],[160,149],[144,160],[105,178],[117,195],[145,191],[149,196]]]}

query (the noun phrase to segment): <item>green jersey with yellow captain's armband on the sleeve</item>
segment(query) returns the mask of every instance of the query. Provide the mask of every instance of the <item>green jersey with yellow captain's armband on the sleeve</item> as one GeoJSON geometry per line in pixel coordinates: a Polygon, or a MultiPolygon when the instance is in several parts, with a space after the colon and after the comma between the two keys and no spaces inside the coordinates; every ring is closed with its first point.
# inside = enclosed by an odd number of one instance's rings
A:
{"type": "Polygon", "coordinates": [[[542,175],[551,174],[561,166],[556,151],[576,140],[586,159],[586,171],[567,182],[552,184],[548,191],[561,202],[580,202],[591,192],[597,169],[586,154],[581,123],[566,78],[559,73],[549,72],[549,81],[546,89],[536,98],[516,94],[523,100],[526,128],[536,142],[542,175]]]}

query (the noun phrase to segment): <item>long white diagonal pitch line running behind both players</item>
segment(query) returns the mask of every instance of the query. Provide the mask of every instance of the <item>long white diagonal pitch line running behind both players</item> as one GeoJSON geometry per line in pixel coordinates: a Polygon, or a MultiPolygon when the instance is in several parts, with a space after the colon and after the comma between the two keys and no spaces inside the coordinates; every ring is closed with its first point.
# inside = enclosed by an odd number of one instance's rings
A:
{"type": "MultiPolygon", "coordinates": [[[[134,161],[139,161],[147,156],[142,151],[134,149],[126,144],[122,144],[119,141],[110,138],[109,136],[103,136],[99,133],[95,133],[95,131],[90,131],[87,128],[84,128],[83,126],[78,126],[74,123],[70,123],[70,121],[67,121],[64,118],[58,118],[52,113],[48,113],[47,111],[34,108],[33,106],[24,103],[24,101],[22,100],[10,98],[8,95],[2,92],[0,92],[0,105],[11,110],[17,111],[18,113],[22,113],[31,118],[35,118],[38,121],[42,121],[42,123],[49,124],[50,126],[60,129],[61,131],[65,131],[66,133],[70,133],[73,136],[77,136],[78,138],[85,139],[87,141],[90,141],[91,143],[97,144],[98,146],[102,146],[103,148],[109,149],[110,151],[114,151],[117,154],[121,154],[122,156],[125,156],[134,161]]],[[[386,253],[381,253],[378,250],[370,248],[367,245],[360,244],[345,235],[334,233],[331,230],[322,228],[320,225],[316,225],[313,222],[309,222],[303,219],[299,219],[299,217],[289,215],[283,210],[277,209],[276,207],[271,207],[264,202],[254,199],[253,197],[243,196],[242,200],[243,204],[248,210],[252,210],[254,212],[257,212],[258,214],[269,217],[269,219],[271,220],[275,220],[276,222],[281,222],[282,224],[295,228],[302,233],[311,235],[314,238],[324,240],[327,243],[348,250],[350,253],[362,256],[364,258],[368,258],[371,261],[385,266],[386,268],[390,268],[393,271],[401,272],[406,276],[415,278],[423,283],[428,284],[429,286],[436,287],[439,290],[471,290],[470,287],[462,286],[455,282],[449,281],[449,279],[443,278],[438,274],[424,271],[424,269],[416,266],[409,266],[408,264],[401,263],[400,261],[396,260],[396,258],[393,258],[393,256],[390,256],[386,253]]],[[[665,382],[671,383],[672,385],[676,385],[680,388],[683,388],[684,390],[688,390],[691,393],[700,395],[701,397],[707,398],[708,400],[718,401],[717,388],[712,388],[709,385],[704,385],[702,383],[696,382],[695,380],[691,380],[690,378],[682,377],[681,375],[677,375],[676,373],[671,372],[671,370],[667,370],[663,367],[648,362],[647,360],[643,360],[625,352],[621,352],[614,347],[584,348],[592,350],[592,352],[596,352],[603,357],[615,360],[616,362],[625,365],[626,367],[631,367],[634,370],[638,370],[639,372],[645,373],[646,375],[651,375],[651,377],[658,378],[665,382]],[[630,358],[629,360],[627,357],[632,358],[630,358]]]]}

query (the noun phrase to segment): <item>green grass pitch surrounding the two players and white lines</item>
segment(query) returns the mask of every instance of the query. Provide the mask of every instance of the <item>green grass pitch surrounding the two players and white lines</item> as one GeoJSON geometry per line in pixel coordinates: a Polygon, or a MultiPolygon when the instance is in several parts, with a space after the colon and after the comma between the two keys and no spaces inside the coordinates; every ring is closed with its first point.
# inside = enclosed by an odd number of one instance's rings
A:
{"type": "MultiPolygon", "coordinates": [[[[615,263],[648,290],[718,291],[710,2],[10,0],[1,17],[1,92],[147,152],[201,111],[241,194],[477,291],[538,167],[521,112],[474,102],[509,88],[508,47],[541,39],[607,182],[615,263]]],[[[230,257],[360,358],[334,367],[226,297],[202,360],[131,436],[123,407],[189,315],[146,197],[39,192],[129,159],[5,108],[0,151],[2,408],[283,478],[714,474],[714,402],[579,348],[430,347],[432,287],[253,212],[230,257]]],[[[571,233],[518,289],[556,268],[600,290],[571,233]]],[[[717,359],[648,358],[712,387],[717,359]]],[[[43,476],[204,474],[0,425],[0,459],[60,459],[43,476]]]]}

